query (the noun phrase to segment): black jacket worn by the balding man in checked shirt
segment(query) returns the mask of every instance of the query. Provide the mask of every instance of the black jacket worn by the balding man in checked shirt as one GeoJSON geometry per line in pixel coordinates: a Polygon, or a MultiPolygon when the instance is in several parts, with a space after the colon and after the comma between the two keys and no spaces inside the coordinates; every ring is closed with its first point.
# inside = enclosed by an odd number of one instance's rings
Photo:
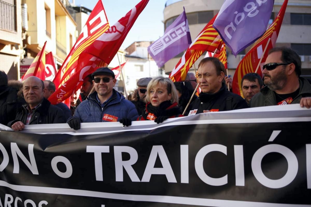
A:
{"type": "MultiPolygon", "coordinates": [[[[17,110],[16,118],[14,121],[10,121],[7,126],[11,127],[17,121],[21,121],[26,124],[28,110],[26,109],[28,104],[22,105],[17,110]]],[[[48,100],[43,98],[42,103],[35,109],[30,119],[29,124],[61,124],[66,123],[63,110],[57,106],[53,106],[48,100]]]]}

